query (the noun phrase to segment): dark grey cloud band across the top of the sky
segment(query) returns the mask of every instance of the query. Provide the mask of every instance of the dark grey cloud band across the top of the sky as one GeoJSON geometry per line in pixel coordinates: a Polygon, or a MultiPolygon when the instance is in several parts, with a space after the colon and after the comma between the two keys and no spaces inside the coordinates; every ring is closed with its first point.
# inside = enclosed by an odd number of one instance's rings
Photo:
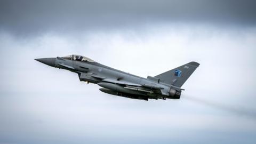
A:
{"type": "Polygon", "coordinates": [[[13,33],[137,27],[155,22],[254,26],[256,2],[246,1],[1,1],[0,28],[13,33]]]}

